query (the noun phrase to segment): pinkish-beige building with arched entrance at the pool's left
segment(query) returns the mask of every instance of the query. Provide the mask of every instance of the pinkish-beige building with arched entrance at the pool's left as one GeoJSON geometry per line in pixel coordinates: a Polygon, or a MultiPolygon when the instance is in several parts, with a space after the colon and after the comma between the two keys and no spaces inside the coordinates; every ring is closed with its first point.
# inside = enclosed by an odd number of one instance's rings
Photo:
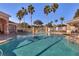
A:
{"type": "Polygon", "coordinates": [[[16,31],[16,24],[9,21],[10,15],[0,11],[0,33],[9,34],[12,31],[16,31]]]}

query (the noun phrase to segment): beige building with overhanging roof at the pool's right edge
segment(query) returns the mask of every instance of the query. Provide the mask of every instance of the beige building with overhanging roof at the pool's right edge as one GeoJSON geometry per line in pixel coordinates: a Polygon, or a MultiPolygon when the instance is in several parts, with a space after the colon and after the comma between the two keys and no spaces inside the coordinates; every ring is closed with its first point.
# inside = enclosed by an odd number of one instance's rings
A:
{"type": "Polygon", "coordinates": [[[67,23],[67,34],[71,34],[74,30],[77,30],[77,32],[79,32],[79,17],[76,17],[72,21],[67,23]]]}

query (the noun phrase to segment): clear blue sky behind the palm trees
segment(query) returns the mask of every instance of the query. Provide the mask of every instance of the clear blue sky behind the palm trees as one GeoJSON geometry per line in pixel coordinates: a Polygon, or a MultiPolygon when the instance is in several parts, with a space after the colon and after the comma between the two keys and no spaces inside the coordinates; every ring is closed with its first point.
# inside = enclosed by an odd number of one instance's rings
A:
{"type": "MultiPolygon", "coordinates": [[[[14,22],[18,22],[18,19],[16,17],[16,13],[18,10],[21,9],[21,7],[27,8],[29,3],[0,3],[0,11],[5,12],[9,15],[11,15],[10,20],[14,22]]],[[[33,14],[33,21],[36,19],[41,20],[44,24],[48,23],[49,21],[54,21],[55,19],[60,19],[60,17],[64,17],[65,21],[64,23],[70,21],[73,19],[73,16],[77,9],[79,9],[79,4],[77,3],[60,3],[59,8],[57,9],[56,13],[50,13],[48,15],[48,18],[43,12],[43,8],[45,5],[51,5],[50,3],[35,3],[32,4],[35,7],[35,13],[33,14]]],[[[30,16],[29,14],[24,17],[25,22],[31,24],[30,22],[30,16]]],[[[60,24],[61,21],[58,21],[58,24],[60,24]]]]}

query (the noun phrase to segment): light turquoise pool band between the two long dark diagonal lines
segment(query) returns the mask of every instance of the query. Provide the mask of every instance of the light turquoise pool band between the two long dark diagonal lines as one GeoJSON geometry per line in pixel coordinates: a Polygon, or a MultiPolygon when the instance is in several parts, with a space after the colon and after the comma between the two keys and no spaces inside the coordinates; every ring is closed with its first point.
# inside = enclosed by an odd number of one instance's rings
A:
{"type": "Polygon", "coordinates": [[[13,52],[19,56],[34,56],[40,54],[41,51],[46,49],[47,47],[55,44],[56,41],[62,38],[59,37],[49,37],[45,40],[39,40],[37,42],[31,43],[27,46],[23,46],[21,48],[15,49],[13,52]]]}

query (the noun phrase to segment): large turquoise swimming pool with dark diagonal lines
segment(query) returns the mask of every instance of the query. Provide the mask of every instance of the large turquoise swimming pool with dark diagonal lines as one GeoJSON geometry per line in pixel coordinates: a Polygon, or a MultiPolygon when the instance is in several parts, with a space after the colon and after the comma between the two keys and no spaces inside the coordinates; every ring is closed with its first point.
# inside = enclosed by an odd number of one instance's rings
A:
{"type": "Polygon", "coordinates": [[[4,56],[77,56],[79,45],[71,43],[63,35],[16,36],[0,45],[4,56]]]}

